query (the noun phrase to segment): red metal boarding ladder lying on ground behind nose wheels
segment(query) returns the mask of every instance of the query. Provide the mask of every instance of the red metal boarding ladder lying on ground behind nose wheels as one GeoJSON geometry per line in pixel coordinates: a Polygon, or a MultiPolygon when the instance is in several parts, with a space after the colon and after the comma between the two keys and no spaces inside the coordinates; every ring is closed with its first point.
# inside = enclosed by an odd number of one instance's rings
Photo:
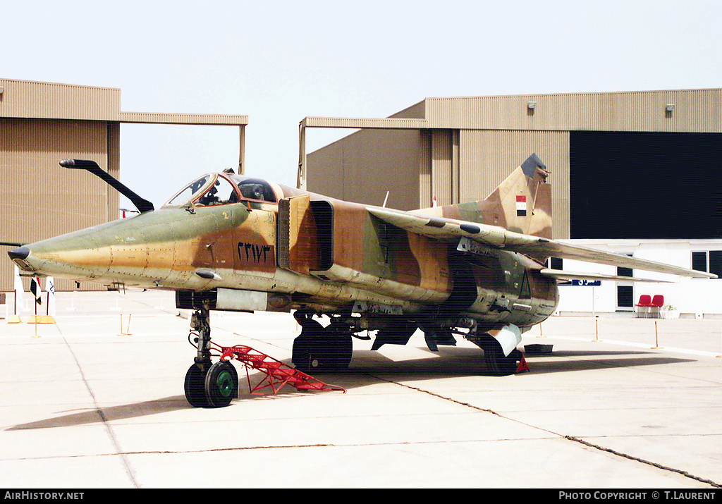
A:
{"type": "Polygon", "coordinates": [[[258,350],[251,347],[245,345],[221,347],[214,342],[211,344],[221,352],[220,360],[235,359],[245,366],[245,376],[248,379],[248,389],[251,394],[267,394],[268,388],[273,391],[273,394],[277,394],[286,385],[295,387],[300,391],[342,391],[346,394],[346,389],[343,387],[323,383],[323,381],[317,380],[313,376],[294,369],[290,365],[269,357],[263,352],[258,352],[258,350]],[[256,386],[251,386],[251,369],[261,371],[266,375],[256,386]]]}

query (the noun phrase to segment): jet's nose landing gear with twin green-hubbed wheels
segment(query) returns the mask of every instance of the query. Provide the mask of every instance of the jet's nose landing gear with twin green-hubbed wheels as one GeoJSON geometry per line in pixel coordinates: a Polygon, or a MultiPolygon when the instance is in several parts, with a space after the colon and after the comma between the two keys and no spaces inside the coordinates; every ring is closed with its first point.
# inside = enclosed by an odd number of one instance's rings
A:
{"type": "MultiPolygon", "coordinates": [[[[238,373],[227,360],[211,362],[211,325],[208,303],[193,313],[191,328],[196,331],[198,355],[188,368],[183,388],[186,399],[196,408],[222,408],[238,396],[238,373]]],[[[193,333],[191,333],[193,334],[193,333]]]]}

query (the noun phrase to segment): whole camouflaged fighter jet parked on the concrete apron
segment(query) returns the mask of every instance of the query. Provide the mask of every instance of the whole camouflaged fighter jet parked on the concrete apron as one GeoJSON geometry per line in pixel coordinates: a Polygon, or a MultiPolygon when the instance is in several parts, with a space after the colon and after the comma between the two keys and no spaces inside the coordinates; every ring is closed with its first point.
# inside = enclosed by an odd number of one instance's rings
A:
{"type": "Polygon", "coordinates": [[[549,172],[536,155],[484,201],[412,212],[233,173],[207,173],[154,209],[95,162],[61,165],[100,176],[140,214],[14,248],[10,258],[33,275],[174,290],[199,331],[185,383],[193,406],[229,404],[238,382],[220,379],[233,374],[230,363],[211,362],[211,310],[295,310],[303,329],[292,362],[303,372],[347,368],[361,331],[377,331],[378,349],[420,329],[432,351],[463,336],[484,350],[492,374],[505,375],[521,360],[521,334],[557,308],[558,281],[635,280],[549,269],[550,257],[715,277],[552,240],[549,172]],[[329,326],[313,320],[321,315],[329,326]]]}

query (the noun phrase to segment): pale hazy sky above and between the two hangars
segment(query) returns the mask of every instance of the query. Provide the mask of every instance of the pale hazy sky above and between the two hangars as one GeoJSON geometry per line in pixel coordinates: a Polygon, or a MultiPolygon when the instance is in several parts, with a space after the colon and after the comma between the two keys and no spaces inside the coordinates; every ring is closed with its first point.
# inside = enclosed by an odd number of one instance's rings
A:
{"type": "MultiPolygon", "coordinates": [[[[118,87],[127,112],[247,114],[246,173],[290,186],[305,116],[722,87],[719,0],[66,0],[0,17],[0,77],[118,87]]],[[[307,151],[350,132],[311,129],[307,151]]],[[[121,180],[157,205],[237,162],[235,127],[121,126],[121,180]]]]}

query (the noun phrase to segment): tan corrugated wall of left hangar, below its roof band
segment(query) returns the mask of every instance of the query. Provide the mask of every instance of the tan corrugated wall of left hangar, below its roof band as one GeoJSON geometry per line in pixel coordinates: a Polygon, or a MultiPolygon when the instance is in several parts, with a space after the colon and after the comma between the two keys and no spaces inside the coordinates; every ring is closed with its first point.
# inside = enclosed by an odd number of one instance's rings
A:
{"type": "MultiPolygon", "coordinates": [[[[108,142],[103,121],[0,118],[3,240],[30,243],[107,222],[111,215],[116,219],[118,196],[109,199],[107,184],[58,165],[77,157],[107,168],[108,142]]],[[[117,160],[115,171],[117,175],[117,160]]],[[[2,247],[0,254],[6,257],[8,249],[2,247]]],[[[0,261],[0,290],[12,290],[12,271],[11,261],[0,261]]],[[[58,279],[56,286],[69,290],[74,284],[58,279]]],[[[102,286],[88,283],[84,288],[102,286]]]]}

